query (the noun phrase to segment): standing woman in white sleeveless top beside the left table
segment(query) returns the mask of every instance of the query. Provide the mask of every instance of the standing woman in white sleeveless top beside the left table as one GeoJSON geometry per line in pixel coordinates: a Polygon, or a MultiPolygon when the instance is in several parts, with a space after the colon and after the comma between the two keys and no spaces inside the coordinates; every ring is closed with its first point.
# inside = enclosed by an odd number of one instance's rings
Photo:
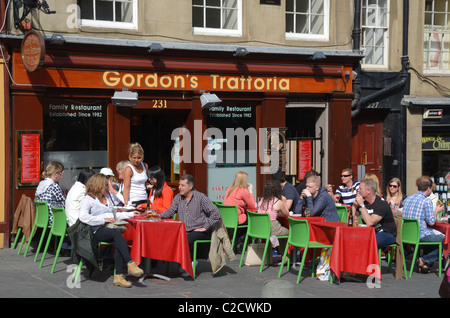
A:
{"type": "Polygon", "coordinates": [[[148,166],[143,162],[144,149],[139,143],[128,149],[130,164],[125,168],[123,177],[123,200],[125,205],[139,206],[147,203],[146,182],[148,166]]]}

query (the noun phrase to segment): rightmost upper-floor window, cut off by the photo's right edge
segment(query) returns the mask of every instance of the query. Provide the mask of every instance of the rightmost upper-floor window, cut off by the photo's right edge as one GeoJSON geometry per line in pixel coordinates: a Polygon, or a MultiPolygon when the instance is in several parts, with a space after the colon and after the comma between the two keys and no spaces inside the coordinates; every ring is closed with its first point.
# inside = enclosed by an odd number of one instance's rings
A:
{"type": "Polygon", "coordinates": [[[447,72],[450,69],[450,1],[425,1],[423,69],[447,72]]]}

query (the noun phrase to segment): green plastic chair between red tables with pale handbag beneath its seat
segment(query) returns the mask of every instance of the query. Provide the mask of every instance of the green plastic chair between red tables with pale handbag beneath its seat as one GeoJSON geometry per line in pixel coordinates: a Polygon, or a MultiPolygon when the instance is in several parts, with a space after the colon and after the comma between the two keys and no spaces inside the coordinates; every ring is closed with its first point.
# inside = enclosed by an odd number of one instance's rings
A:
{"type": "MultiPolygon", "coordinates": [[[[270,215],[268,213],[256,213],[247,210],[248,218],[248,228],[247,234],[245,235],[244,248],[242,249],[241,261],[239,262],[239,267],[242,267],[242,262],[244,261],[245,249],[247,248],[248,238],[251,237],[253,240],[255,238],[266,240],[266,245],[264,248],[263,258],[261,261],[261,267],[259,272],[261,273],[264,267],[264,260],[269,263],[270,254],[270,215]]],[[[288,238],[288,235],[277,236],[278,238],[288,238]]]]}

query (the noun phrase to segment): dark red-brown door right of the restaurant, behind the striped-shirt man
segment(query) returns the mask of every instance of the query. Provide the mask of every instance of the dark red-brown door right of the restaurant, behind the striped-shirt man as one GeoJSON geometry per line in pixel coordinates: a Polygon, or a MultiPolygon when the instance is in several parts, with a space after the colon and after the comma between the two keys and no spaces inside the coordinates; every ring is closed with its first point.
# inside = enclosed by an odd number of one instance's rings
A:
{"type": "Polygon", "coordinates": [[[352,169],[355,179],[362,181],[365,173],[373,173],[383,185],[383,123],[361,120],[352,128],[352,169]],[[358,167],[359,175],[358,174],[358,167]],[[363,168],[363,169],[361,169],[363,168]]]}

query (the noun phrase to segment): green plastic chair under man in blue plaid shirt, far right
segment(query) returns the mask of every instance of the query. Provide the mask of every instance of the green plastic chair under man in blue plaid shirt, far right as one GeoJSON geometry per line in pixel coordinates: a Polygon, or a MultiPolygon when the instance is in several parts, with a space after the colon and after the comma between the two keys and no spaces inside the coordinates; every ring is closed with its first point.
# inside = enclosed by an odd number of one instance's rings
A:
{"type": "MultiPolygon", "coordinates": [[[[438,245],[439,248],[439,277],[442,276],[442,242],[420,242],[420,226],[419,220],[417,219],[402,219],[402,229],[401,229],[401,238],[402,238],[402,248],[404,249],[404,244],[414,245],[414,254],[411,260],[411,269],[409,271],[409,278],[412,276],[412,272],[414,269],[414,265],[416,262],[417,254],[420,245],[438,245]]],[[[403,271],[405,272],[405,279],[408,279],[408,272],[406,271],[406,262],[405,262],[405,251],[403,250],[403,271]]]]}

